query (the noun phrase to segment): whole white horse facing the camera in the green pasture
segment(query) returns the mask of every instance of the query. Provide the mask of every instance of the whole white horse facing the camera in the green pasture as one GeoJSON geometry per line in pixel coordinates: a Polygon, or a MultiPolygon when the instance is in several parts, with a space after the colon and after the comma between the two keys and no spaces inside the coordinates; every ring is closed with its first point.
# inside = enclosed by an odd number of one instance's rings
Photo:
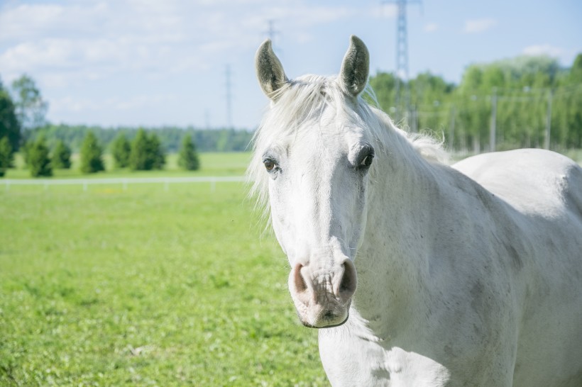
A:
{"type": "Polygon", "coordinates": [[[449,167],[363,101],[368,63],[354,36],[339,77],[287,79],[269,40],[256,55],[271,103],[248,173],[329,381],[582,386],[581,167],[449,167]]]}

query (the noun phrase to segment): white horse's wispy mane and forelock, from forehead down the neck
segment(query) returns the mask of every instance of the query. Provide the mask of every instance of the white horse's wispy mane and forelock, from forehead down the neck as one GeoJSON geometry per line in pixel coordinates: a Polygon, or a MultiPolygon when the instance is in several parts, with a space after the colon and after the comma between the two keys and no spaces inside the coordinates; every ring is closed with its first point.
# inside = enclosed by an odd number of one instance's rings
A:
{"type": "MultiPolygon", "coordinates": [[[[342,91],[337,77],[308,74],[287,82],[271,96],[270,109],[263,116],[251,140],[253,155],[246,172],[247,181],[251,184],[249,196],[256,198],[256,207],[263,210],[265,218],[269,214],[269,177],[263,167],[263,152],[282,138],[300,135],[302,130],[309,128],[307,123],[322,119],[325,108],[333,108],[336,117],[344,116],[351,123],[367,128],[380,145],[390,141],[391,148],[394,145],[412,148],[415,151],[412,153],[419,156],[417,159],[443,163],[448,161],[449,154],[444,150],[442,142],[432,135],[408,133],[397,128],[390,117],[378,108],[378,101],[369,84],[362,94],[353,99],[342,91]],[[370,105],[364,96],[375,106],[370,105]]],[[[385,147],[381,146],[380,151],[385,152],[385,147]]]]}

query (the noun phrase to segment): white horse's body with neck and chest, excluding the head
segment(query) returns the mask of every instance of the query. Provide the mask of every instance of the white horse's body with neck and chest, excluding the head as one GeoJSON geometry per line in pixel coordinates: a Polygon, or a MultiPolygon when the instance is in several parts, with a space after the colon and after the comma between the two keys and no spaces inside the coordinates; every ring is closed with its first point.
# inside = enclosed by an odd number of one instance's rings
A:
{"type": "Polygon", "coordinates": [[[424,184],[386,174],[371,185],[380,208],[368,208],[351,318],[319,331],[332,385],[578,386],[582,217],[569,207],[582,208],[582,170],[533,150],[455,166],[490,176],[487,190],[456,169],[425,167],[424,184]],[[516,183],[519,195],[502,194],[516,183]]]}

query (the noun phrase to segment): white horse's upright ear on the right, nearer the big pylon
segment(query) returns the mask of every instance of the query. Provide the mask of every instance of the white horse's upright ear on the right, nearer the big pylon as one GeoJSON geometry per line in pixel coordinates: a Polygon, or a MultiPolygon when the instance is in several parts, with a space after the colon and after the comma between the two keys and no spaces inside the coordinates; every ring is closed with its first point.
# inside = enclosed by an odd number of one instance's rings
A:
{"type": "Polygon", "coordinates": [[[368,48],[356,35],[350,37],[350,47],[341,63],[339,80],[347,94],[358,96],[368,83],[370,54],[368,48]]]}

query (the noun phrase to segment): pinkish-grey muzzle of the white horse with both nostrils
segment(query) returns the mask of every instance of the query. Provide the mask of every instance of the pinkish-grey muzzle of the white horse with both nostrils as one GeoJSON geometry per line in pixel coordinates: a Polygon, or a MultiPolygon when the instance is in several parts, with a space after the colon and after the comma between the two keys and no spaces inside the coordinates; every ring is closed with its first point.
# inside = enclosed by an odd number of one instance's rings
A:
{"type": "Polygon", "coordinates": [[[296,264],[289,275],[297,315],[304,326],[313,328],[336,327],[348,320],[356,284],[356,268],[347,258],[330,267],[296,264]]]}

